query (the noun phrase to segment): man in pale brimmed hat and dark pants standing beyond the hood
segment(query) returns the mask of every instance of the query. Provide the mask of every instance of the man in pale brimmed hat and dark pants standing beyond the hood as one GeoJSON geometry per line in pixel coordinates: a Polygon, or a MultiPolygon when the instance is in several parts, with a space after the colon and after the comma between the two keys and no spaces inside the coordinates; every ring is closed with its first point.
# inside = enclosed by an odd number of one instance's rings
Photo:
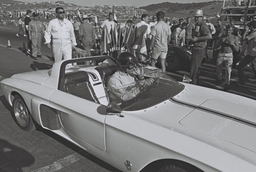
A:
{"type": "Polygon", "coordinates": [[[194,42],[194,47],[192,49],[190,78],[192,78],[191,84],[194,85],[198,84],[199,67],[206,52],[206,42],[208,39],[212,39],[212,34],[208,26],[202,22],[202,18],[203,10],[197,10],[194,15],[196,26],[191,39],[194,42]]]}

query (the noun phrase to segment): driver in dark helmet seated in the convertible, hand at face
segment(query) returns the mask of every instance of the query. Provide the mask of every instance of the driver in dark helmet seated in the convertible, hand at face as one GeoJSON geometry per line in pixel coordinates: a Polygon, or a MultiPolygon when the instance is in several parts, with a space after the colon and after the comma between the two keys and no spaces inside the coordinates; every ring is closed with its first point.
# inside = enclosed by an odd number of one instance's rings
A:
{"type": "Polygon", "coordinates": [[[132,53],[122,52],[117,58],[117,63],[118,70],[108,80],[109,96],[114,102],[131,100],[153,84],[153,78],[144,79],[143,66],[132,53]]]}

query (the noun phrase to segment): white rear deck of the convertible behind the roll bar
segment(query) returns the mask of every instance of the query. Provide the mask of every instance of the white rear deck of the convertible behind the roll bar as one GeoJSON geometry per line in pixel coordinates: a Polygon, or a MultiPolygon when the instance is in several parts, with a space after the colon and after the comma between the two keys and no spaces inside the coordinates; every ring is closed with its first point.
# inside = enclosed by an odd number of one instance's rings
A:
{"type": "Polygon", "coordinates": [[[24,72],[20,74],[14,74],[11,78],[27,80],[30,82],[35,82],[37,84],[43,84],[44,80],[49,77],[49,70],[35,70],[30,72],[24,72]]]}

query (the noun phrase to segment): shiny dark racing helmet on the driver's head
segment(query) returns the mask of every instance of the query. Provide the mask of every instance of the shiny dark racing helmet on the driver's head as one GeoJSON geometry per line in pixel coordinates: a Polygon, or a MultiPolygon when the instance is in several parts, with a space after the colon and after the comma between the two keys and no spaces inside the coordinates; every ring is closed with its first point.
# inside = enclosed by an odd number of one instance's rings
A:
{"type": "Polygon", "coordinates": [[[131,66],[136,66],[138,63],[138,60],[131,52],[122,52],[117,57],[117,64],[121,70],[131,69],[131,66]]]}

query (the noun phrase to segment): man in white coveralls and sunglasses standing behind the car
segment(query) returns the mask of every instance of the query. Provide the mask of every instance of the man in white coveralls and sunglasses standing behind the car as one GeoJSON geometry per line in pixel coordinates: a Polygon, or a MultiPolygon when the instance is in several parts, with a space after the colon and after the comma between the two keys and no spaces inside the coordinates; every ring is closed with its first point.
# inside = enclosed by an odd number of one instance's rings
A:
{"type": "Polygon", "coordinates": [[[76,46],[76,37],[74,34],[73,24],[65,17],[65,11],[62,7],[57,7],[56,19],[49,22],[45,30],[44,39],[47,48],[51,48],[52,36],[52,50],[55,62],[62,59],[72,58],[72,48],[76,46]]]}

